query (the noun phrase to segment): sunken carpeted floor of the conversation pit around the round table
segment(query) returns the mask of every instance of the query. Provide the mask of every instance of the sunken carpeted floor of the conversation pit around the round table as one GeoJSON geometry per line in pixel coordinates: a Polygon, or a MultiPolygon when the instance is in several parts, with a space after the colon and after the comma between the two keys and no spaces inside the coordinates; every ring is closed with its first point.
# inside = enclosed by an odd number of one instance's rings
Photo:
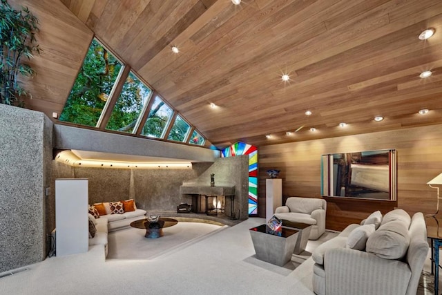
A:
{"type": "Polygon", "coordinates": [[[151,260],[193,245],[215,232],[227,228],[200,222],[178,222],[163,229],[161,238],[145,238],[146,229],[129,227],[108,234],[106,260],[151,260]]]}

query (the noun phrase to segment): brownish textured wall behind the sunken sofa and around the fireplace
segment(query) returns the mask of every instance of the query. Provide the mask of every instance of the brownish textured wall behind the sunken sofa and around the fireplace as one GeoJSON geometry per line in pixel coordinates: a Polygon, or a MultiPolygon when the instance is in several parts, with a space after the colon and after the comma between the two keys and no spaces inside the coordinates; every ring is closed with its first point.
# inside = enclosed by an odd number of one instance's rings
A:
{"type": "Polygon", "coordinates": [[[175,211],[180,202],[191,203],[191,196],[180,194],[182,183],[198,179],[206,180],[206,184],[210,184],[210,174],[215,173],[215,185],[235,185],[236,215],[238,216],[240,210],[240,218],[247,218],[247,155],[218,158],[214,163],[193,163],[193,169],[73,168],[58,162],[54,167],[55,178],[74,177],[89,180],[89,204],[134,198],[137,207],[147,211],[175,211]],[[73,174],[70,174],[70,169],[73,174]]]}

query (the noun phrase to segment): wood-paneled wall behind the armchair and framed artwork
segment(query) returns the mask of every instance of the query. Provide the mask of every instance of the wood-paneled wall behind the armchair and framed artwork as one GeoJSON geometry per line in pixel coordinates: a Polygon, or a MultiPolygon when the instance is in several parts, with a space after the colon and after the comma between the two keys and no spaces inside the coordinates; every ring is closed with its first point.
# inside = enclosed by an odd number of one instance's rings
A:
{"type": "Polygon", "coordinates": [[[280,169],[282,195],[321,198],[320,155],[376,149],[397,151],[397,202],[326,198],[327,229],[342,230],[369,213],[394,207],[410,214],[436,211],[436,190],[426,184],[442,172],[442,125],[260,146],[259,215],[265,216],[267,169],[280,169]]]}

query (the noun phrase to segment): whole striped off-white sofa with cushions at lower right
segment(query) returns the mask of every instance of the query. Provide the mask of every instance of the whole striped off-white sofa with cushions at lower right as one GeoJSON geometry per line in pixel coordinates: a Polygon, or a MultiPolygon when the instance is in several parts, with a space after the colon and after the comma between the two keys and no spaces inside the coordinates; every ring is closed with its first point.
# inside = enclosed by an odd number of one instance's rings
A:
{"type": "Polygon", "coordinates": [[[422,213],[372,213],[312,254],[318,295],[414,295],[429,250],[422,213]]]}

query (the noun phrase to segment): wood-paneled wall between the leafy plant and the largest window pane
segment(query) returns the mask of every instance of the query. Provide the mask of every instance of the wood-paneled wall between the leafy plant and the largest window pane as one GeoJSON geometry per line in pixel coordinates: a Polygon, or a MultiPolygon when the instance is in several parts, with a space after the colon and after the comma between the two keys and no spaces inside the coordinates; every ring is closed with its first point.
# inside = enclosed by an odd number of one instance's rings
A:
{"type": "Polygon", "coordinates": [[[52,117],[52,112],[60,115],[83,64],[93,32],[61,1],[8,2],[15,8],[28,7],[39,18],[37,42],[41,53],[29,61],[37,75],[32,79],[19,77],[23,88],[32,94],[32,99],[24,99],[25,107],[41,111],[48,117],[52,117]]]}

